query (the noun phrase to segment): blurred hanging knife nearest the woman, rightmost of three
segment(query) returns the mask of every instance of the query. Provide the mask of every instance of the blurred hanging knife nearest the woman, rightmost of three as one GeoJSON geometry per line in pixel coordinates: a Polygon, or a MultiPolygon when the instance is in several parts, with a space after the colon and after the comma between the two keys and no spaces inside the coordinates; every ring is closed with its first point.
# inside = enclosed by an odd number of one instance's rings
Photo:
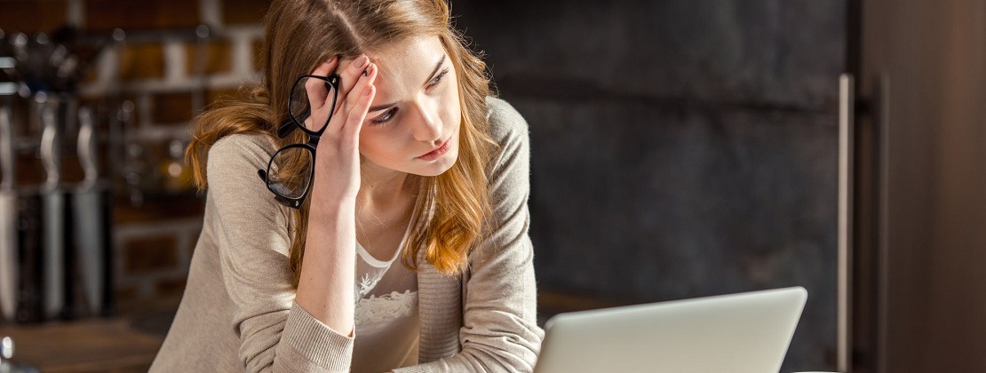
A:
{"type": "Polygon", "coordinates": [[[86,304],[92,315],[98,315],[103,306],[103,255],[106,237],[103,236],[103,200],[99,183],[97,162],[97,138],[93,111],[79,110],[79,162],[85,174],[76,189],[74,204],[77,256],[82,274],[86,304]]]}

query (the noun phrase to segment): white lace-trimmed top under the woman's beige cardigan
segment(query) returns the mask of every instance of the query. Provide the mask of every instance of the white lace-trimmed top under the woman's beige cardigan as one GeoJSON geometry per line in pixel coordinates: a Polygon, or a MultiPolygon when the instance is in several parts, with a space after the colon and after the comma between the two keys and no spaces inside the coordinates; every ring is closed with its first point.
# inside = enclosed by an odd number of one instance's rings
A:
{"type": "Polygon", "coordinates": [[[418,362],[417,275],[393,257],[380,261],[356,245],[353,372],[386,372],[418,362]]]}

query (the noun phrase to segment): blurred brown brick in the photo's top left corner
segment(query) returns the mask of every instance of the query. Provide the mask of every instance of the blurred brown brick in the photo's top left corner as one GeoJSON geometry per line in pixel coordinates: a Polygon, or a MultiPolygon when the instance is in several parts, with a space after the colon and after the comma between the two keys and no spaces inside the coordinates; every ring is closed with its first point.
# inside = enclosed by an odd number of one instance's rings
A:
{"type": "Polygon", "coordinates": [[[51,33],[65,23],[66,8],[64,1],[3,1],[0,29],[5,33],[51,33]]]}

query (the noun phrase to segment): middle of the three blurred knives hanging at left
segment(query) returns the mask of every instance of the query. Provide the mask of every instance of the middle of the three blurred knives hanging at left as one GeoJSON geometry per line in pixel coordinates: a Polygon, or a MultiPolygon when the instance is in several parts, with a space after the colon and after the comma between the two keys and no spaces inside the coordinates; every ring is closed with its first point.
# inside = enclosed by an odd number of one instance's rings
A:
{"type": "Polygon", "coordinates": [[[41,119],[40,156],[47,179],[41,190],[43,204],[44,316],[57,318],[65,301],[65,195],[61,190],[61,157],[57,121],[57,101],[36,95],[41,119]]]}

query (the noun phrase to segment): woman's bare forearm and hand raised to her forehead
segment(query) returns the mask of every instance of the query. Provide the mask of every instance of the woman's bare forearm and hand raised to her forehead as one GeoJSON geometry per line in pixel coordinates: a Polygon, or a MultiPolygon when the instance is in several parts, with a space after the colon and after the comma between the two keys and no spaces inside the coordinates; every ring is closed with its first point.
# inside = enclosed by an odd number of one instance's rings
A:
{"type": "MultiPolygon", "coordinates": [[[[333,58],[319,65],[313,75],[335,70],[333,58]]],[[[356,262],[356,193],[360,188],[359,135],[363,119],[373,102],[377,78],[376,65],[361,56],[346,65],[341,75],[339,97],[332,118],[318,141],[316,180],[309,195],[311,208],[298,284],[300,306],[334,331],[352,336],[355,299],[353,296],[356,262]],[[364,73],[364,71],[366,73],[364,73]]],[[[321,119],[333,108],[325,105],[319,87],[309,87],[313,118],[321,119]],[[319,113],[321,112],[321,113],[319,113]]]]}

